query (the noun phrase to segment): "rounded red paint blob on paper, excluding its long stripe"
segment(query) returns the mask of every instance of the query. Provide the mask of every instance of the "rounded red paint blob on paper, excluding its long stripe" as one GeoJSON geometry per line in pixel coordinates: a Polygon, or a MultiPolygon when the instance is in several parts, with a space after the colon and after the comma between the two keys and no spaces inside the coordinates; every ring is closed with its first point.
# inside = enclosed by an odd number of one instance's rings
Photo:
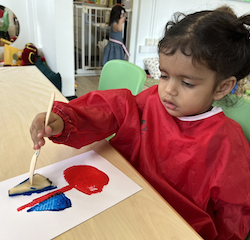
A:
{"type": "Polygon", "coordinates": [[[107,174],[87,165],[67,168],[64,171],[64,178],[70,186],[88,195],[101,192],[109,182],[107,174]]]}

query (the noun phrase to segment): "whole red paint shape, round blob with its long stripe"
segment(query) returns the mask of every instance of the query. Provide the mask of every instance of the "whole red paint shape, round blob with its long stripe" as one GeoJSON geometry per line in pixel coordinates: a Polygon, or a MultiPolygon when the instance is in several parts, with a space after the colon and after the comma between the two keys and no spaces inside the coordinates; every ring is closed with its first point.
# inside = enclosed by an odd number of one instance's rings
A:
{"type": "Polygon", "coordinates": [[[109,177],[106,173],[95,167],[87,165],[77,165],[67,168],[64,170],[64,178],[69,183],[69,185],[48,193],[42,197],[36,198],[32,202],[19,207],[17,211],[21,211],[27,207],[33,207],[34,205],[47,200],[58,192],[63,193],[71,190],[72,188],[76,188],[78,191],[88,195],[98,193],[101,192],[103,187],[109,182],[109,177]]]}

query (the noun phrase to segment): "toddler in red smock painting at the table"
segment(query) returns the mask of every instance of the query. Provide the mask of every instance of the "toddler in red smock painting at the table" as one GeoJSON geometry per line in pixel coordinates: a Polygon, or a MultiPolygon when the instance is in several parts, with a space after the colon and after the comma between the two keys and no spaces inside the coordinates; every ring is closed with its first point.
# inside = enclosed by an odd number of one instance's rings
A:
{"type": "Polygon", "coordinates": [[[112,146],[204,239],[245,239],[250,147],[213,102],[250,72],[249,26],[228,7],[175,15],[158,46],[158,86],[55,102],[45,129],[46,113],[33,120],[34,149],[44,137],[81,148],[116,133],[112,146]]]}

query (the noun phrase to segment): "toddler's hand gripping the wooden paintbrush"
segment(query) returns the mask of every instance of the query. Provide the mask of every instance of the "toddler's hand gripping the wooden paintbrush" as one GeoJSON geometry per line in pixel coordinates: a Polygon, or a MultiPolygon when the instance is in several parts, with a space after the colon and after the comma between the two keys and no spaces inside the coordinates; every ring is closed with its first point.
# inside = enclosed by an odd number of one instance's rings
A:
{"type": "Polygon", "coordinates": [[[45,116],[46,113],[37,114],[30,127],[30,135],[34,143],[34,150],[40,149],[45,144],[45,137],[57,135],[61,133],[64,128],[62,118],[55,113],[50,114],[48,126],[45,128],[45,116]]]}

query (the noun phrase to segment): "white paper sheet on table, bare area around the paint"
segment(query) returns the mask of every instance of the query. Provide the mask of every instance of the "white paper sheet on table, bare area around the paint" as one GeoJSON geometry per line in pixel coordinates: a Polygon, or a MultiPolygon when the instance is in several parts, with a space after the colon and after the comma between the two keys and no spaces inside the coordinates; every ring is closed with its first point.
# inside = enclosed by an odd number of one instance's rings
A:
{"type": "Polygon", "coordinates": [[[106,173],[108,185],[100,193],[86,195],[77,189],[65,192],[72,207],[59,212],[34,211],[18,207],[31,202],[51,191],[31,196],[9,197],[8,190],[29,177],[29,173],[0,182],[0,239],[47,240],[66,232],[78,224],[94,217],[127,197],[141,190],[141,187],[94,151],[86,152],[64,161],[37,169],[35,173],[49,178],[60,189],[68,183],[63,171],[74,165],[90,165],[106,173]]]}

